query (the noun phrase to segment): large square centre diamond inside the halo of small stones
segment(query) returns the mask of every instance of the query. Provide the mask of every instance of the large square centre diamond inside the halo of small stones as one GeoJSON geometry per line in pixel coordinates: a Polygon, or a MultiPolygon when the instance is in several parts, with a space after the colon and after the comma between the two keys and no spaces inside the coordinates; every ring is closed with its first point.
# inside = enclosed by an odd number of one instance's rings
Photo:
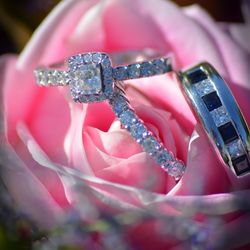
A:
{"type": "Polygon", "coordinates": [[[73,73],[75,87],[84,95],[102,91],[101,68],[94,63],[83,64],[73,73]]]}

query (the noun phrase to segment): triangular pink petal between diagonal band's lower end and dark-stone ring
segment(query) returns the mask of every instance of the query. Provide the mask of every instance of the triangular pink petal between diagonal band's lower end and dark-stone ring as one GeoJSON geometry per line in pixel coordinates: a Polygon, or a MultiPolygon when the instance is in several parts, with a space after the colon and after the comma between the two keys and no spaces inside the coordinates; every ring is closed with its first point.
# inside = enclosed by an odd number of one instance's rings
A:
{"type": "Polygon", "coordinates": [[[180,185],[171,190],[169,195],[205,195],[229,192],[232,188],[225,167],[212,149],[201,125],[197,125],[196,131],[198,134],[194,133],[190,141],[186,172],[180,185]]]}

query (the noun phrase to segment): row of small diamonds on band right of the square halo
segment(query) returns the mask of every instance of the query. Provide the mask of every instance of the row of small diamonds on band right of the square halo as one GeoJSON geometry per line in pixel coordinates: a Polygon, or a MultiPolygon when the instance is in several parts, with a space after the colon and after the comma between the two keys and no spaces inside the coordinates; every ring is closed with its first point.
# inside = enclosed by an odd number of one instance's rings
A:
{"type": "Polygon", "coordinates": [[[171,63],[168,58],[159,58],[147,62],[130,64],[113,68],[115,80],[123,81],[128,79],[149,77],[164,74],[171,70],[171,63]]]}

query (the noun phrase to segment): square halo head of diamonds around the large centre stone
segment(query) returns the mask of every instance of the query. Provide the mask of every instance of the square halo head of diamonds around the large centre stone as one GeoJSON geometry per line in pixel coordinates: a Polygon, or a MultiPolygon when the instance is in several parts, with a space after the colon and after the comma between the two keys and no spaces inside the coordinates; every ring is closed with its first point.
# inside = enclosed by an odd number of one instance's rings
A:
{"type": "Polygon", "coordinates": [[[76,102],[97,102],[113,94],[112,68],[105,53],[86,53],[68,59],[69,86],[76,102]]]}

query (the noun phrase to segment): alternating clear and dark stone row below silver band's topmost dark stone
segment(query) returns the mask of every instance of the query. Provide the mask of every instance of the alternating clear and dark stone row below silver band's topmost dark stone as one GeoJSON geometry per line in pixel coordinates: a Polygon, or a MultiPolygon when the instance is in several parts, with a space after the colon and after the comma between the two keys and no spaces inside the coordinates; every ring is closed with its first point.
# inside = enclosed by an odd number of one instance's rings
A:
{"type": "Polygon", "coordinates": [[[200,79],[200,81],[198,79],[197,82],[195,82],[193,88],[209,110],[211,117],[226,145],[231,161],[235,166],[235,171],[240,173],[240,171],[242,171],[241,162],[247,161],[243,142],[236,131],[234,122],[230,118],[226,107],[223,105],[219,95],[217,94],[214,83],[206,77],[201,78],[202,79],[200,79]],[[241,170],[237,169],[238,167],[240,167],[241,170]]]}

